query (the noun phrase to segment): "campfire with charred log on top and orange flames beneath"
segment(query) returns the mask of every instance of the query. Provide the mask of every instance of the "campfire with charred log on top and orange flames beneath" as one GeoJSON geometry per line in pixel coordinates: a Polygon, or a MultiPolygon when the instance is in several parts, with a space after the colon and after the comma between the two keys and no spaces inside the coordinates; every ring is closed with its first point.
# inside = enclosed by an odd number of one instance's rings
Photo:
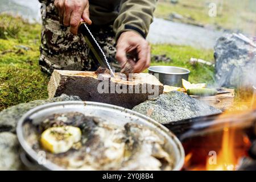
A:
{"type": "Polygon", "coordinates": [[[188,119],[167,127],[183,142],[185,170],[232,171],[256,169],[256,147],[251,145],[255,123],[256,110],[188,119]]]}

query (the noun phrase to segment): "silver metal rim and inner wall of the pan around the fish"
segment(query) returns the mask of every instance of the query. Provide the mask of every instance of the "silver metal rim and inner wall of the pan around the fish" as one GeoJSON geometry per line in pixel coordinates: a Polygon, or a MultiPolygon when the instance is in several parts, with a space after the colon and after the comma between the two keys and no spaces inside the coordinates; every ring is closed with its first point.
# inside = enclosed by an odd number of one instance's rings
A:
{"type": "MultiPolygon", "coordinates": [[[[46,160],[44,163],[40,162],[40,155],[38,152],[32,149],[31,144],[27,140],[27,131],[25,130],[24,124],[31,122],[32,125],[38,125],[52,114],[69,112],[79,112],[88,117],[100,117],[105,119],[105,121],[111,121],[119,126],[124,126],[127,122],[134,122],[143,125],[148,129],[154,130],[159,137],[164,137],[164,139],[166,139],[165,150],[174,159],[173,170],[180,170],[183,167],[185,154],[184,148],[179,139],[177,139],[177,137],[166,127],[160,125],[153,119],[123,107],[102,104],[100,102],[65,101],[35,107],[19,119],[18,126],[16,128],[19,143],[28,158],[31,159],[32,162],[38,166],[38,168],[48,170],[64,170],[49,160],[46,160]]],[[[29,162],[29,160],[24,158],[24,155],[22,159],[23,162],[29,162]]]]}

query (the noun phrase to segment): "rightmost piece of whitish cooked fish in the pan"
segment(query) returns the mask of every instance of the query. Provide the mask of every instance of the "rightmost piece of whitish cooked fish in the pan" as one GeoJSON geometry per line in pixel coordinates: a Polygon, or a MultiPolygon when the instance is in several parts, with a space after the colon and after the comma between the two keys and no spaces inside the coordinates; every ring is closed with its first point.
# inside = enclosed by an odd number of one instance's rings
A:
{"type": "Polygon", "coordinates": [[[126,134],[130,136],[127,150],[131,151],[131,156],[123,162],[121,170],[148,171],[172,168],[170,155],[162,148],[164,140],[154,131],[143,129],[143,126],[136,123],[127,123],[125,129],[126,134]],[[164,164],[158,159],[164,161],[164,164]]]}

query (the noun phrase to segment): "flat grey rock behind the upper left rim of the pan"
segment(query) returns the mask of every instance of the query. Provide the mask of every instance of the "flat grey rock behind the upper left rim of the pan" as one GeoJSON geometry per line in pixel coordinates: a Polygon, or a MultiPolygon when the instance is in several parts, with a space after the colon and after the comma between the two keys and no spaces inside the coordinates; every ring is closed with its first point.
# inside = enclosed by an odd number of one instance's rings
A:
{"type": "Polygon", "coordinates": [[[0,133],[3,131],[15,132],[16,124],[24,113],[36,106],[57,101],[80,101],[80,98],[77,96],[67,96],[63,94],[60,97],[51,98],[48,100],[36,100],[5,109],[0,112],[0,133]]]}

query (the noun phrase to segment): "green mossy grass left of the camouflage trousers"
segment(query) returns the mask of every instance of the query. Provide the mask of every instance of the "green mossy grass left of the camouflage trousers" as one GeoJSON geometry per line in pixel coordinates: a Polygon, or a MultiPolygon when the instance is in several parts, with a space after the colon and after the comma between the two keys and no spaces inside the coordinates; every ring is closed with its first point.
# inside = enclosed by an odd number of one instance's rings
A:
{"type": "MultiPolygon", "coordinates": [[[[0,15],[0,19],[9,15],[0,15]]],[[[40,24],[29,24],[21,18],[11,18],[20,30],[0,39],[0,110],[9,106],[47,98],[49,77],[40,71],[40,24]],[[26,50],[27,49],[27,50],[26,50]]]]}

